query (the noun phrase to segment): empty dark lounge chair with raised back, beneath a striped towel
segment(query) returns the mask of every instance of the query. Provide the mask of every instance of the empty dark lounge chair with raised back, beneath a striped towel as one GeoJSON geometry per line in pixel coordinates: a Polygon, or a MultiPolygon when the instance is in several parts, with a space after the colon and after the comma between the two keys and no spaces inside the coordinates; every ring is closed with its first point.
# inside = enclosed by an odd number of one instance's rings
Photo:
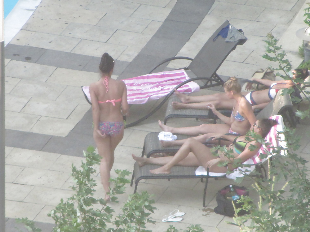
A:
{"type": "MultiPolygon", "coordinates": [[[[210,88],[215,86],[221,86],[224,84],[224,81],[222,78],[216,73],[216,71],[219,69],[221,64],[224,62],[226,57],[234,50],[237,45],[242,45],[245,43],[246,39],[238,40],[235,42],[225,42],[225,39],[221,36],[217,37],[219,32],[222,30],[222,28],[225,28],[229,25],[229,22],[226,20],[224,24],[222,24],[210,37],[210,39],[206,42],[206,44],[201,48],[201,50],[198,52],[195,58],[188,58],[188,57],[173,57],[168,58],[160,64],[158,64],[156,67],[154,67],[150,74],[154,70],[156,70],[157,67],[164,65],[167,62],[170,62],[172,60],[176,59],[187,59],[191,60],[192,62],[189,64],[188,67],[183,67],[177,70],[184,71],[190,70],[193,72],[193,74],[196,75],[194,78],[186,79],[184,82],[171,87],[171,91],[169,93],[166,93],[166,97],[162,100],[161,103],[159,103],[151,112],[149,112],[144,117],[140,118],[139,120],[129,123],[126,125],[126,127],[131,127],[136,125],[137,123],[145,120],[146,118],[150,117],[152,114],[154,114],[168,99],[169,97],[174,93],[174,89],[179,89],[184,84],[187,84],[192,81],[201,81],[202,83],[199,85],[199,88],[210,88]],[[216,38],[216,40],[214,40],[216,38]],[[214,40],[214,41],[213,41],[214,40]]],[[[138,78],[138,77],[137,77],[138,78]]],[[[130,78],[131,80],[135,78],[130,78]]],[[[198,89],[199,89],[198,88],[198,89]]],[[[196,89],[196,88],[195,88],[196,89]]],[[[84,96],[86,97],[86,100],[90,103],[89,94],[87,93],[87,87],[82,87],[82,91],[84,93],[84,96]]],[[[128,95],[131,95],[131,92],[128,92],[128,95]]],[[[135,94],[135,93],[133,93],[135,94]]]]}

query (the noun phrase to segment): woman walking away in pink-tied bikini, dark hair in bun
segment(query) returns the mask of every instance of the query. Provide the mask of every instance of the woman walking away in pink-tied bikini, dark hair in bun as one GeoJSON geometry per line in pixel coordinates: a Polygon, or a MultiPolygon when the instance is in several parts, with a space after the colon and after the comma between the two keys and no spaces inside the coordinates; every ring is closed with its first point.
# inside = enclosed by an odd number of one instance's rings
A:
{"type": "Polygon", "coordinates": [[[114,163],[114,150],[124,135],[123,115],[128,113],[127,89],[121,80],[111,78],[114,59],[108,53],[101,58],[101,78],[89,87],[94,122],[93,136],[100,160],[100,177],[109,200],[109,178],[114,163]]]}

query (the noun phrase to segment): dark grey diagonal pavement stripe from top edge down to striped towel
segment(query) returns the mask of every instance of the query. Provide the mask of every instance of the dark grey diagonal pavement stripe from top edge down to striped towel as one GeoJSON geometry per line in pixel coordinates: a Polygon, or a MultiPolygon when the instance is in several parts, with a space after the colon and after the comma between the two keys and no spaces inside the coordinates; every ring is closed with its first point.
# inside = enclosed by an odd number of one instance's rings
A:
{"type": "MultiPolygon", "coordinates": [[[[174,57],[196,31],[214,0],[178,0],[166,20],[119,79],[144,75],[164,59],[174,57]]],[[[160,67],[157,71],[162,71],[160,67]]]]}

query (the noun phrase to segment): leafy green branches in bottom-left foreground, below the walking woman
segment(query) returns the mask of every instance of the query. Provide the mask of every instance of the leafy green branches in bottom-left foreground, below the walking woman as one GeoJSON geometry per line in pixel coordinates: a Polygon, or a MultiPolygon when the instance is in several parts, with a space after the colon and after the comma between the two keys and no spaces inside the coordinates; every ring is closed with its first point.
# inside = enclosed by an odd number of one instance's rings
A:
{"type": "MultiPolygon", "coordinates": [[[[156,221],[149,217],[156,208],[153,206],[152,195],[147,192],[135,193],[128,196],[128,200],[122,207],[122,213],[117,215],[113,208],[107,205],[102,198],[94,197],[96,182],[93,176],[96,170],[94,165],[99,165],[100,156],[95,153],[93,147],[84,151],[86,162],[82,162],[78,169],[72,165],[72,174],[75,191],[74,195],[60,203],[48,216],[55,221],[53,232],[151,232],[146,229],[146,224],[154,224],[156,221]]],[[[117,195],[125,192],[126,184],[130,181],[126,178],[130,174],[127,170],[115,170],[117,178],[110,178],[113,185],[110,191],[111,202],[118,203],[117,195]]],[[[24,223],[28,231],[40,232],[34,222],[28,218],[16,219],[18,223],[24,223]]],[[[179,231],[170,227],[167,231],[179,231]]],[[[200,226],[188,227],[188,232],[203,231],[200,226]]]]}

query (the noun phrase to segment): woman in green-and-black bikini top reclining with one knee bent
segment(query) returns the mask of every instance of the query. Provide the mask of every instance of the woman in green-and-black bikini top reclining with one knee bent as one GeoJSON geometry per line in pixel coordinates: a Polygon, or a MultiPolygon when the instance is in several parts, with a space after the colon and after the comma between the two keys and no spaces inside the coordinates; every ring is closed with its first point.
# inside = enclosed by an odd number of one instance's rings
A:
{"type": "MultiPolygon", "coordinates": [[[[255,122],[251,127],[251,131],[254,131],[257,135],[265,136],[269,133],[270,129],[277,125],[276,120],[272,119],[260,119],[255,122]]],[[[232,141],[232,144],[229,145],[228,150],[232,150],[232,155],[234,158],[225,157],[224,154],[219,153],[219,156],[214,156],[210,148],[206,147],[204,144],[200,143],[194,139],[188,139],[175,156],[169,157],[157,157],[157,158],[145,158],[145,157],[136,157],[132,154],[132,157],[135,161],[138,162],[139,166],[146,164],[158,164],[163,165],[160,168],[150,170],[153,174],[169,174],[170,169],[174,165],[180,166],[200,166],[202,165],[206,170],[210,169],[210,172],[226,173],[227,170],[233,170],[235,167],[232,165],[232,159],[238,159],[239,163],[243,163],[250,157],[253,157],[261,147],[261,143],[257,141],[251,141],[253,138],[249,136],[250,139],[246,140],[246,136],[234,136],[234,135],[216,135],[215,139],[225,138],[232,141]],[[250,141],[250,142],[249,142],[250,141]],[[256,148],[253,149],[253,146],[256,148]],[[228,165],[219,167],[217,164],[220,161],[228,161],[228,165]]]]}

